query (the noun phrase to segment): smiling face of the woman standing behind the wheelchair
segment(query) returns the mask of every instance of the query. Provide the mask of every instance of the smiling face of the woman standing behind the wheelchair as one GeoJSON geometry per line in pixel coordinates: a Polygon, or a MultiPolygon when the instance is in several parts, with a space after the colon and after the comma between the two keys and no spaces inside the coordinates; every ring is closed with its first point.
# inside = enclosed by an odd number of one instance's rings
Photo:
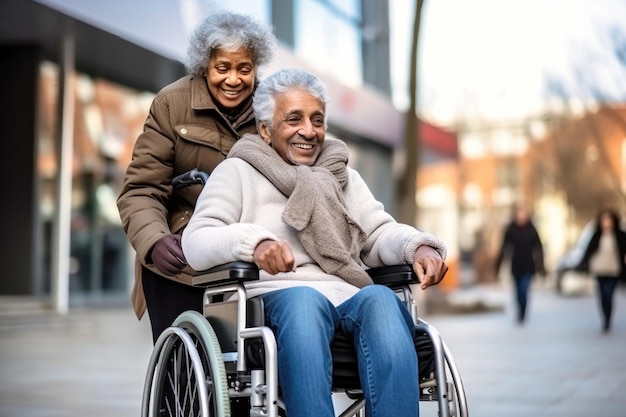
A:
{"type": "Polygon", "coordinates": [[[231,110],[247,99],[254,89],[256,67],[247,49],[228,52],[216,49],[207,67],[207,84],[217,104],[231,110]]]}

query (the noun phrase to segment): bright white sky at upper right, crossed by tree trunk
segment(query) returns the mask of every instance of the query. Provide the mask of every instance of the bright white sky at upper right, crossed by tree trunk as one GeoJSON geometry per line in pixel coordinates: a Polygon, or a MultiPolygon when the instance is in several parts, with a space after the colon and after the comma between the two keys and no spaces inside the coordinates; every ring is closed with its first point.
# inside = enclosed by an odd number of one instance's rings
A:
{"type": "MultiPolygon", "coordinates": [[[[394,104],[401,109],[408,106],[413,3],[390,3],[394,104]]],[[[582,71],[624,92],[626,70],[610,56],[606,36],[612,24],[626,30],[626,1],[426,0],[422,12],[419,106],[431,120],[536,114],[545,105],[546,74],[573,85],[572,74],[582,71]]]]}

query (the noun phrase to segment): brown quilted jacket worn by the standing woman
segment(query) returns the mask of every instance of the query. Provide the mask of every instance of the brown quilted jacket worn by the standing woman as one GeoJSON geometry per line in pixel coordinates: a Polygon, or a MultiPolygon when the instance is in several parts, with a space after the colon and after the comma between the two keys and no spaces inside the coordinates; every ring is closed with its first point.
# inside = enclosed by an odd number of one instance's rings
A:
{"type": "MultiPolygon", "coordinates": [[[[138,318],[146,310],[141,266],[158,272],[148,256],[152,247],[185,228],[201,191],[199,185],[175,190],[172,178],[193,168],[210,174],[244,133],[256,133],[253,115],[231,126],[217,111],[204,77],[185,76],[154,98],[117,200],[137,254],[131,300],[138,318]]],[[[188,267],[168,278],[189,283],[193,273],[188,267]]]]}

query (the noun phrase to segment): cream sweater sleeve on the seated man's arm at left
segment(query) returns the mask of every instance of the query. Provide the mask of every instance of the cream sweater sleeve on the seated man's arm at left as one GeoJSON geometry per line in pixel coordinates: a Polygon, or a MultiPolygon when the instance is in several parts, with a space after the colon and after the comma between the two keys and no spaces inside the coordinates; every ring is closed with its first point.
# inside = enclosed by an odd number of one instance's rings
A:
{"type": "Polygon", "coordinates": [[[244,184],[241,161],[227,159],[205,184],[189,224],[183,231],[182,248],[196,271],[234,261],[253,261],[262,240],[278,240],[263,226],[240,223],[244,184]]]}

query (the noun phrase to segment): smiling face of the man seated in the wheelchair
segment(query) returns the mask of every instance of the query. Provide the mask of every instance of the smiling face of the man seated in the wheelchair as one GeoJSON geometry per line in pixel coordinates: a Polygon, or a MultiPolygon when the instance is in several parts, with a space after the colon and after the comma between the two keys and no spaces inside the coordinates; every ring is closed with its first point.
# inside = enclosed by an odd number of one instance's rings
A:
{"type": "Polygon", "coordinates": [[[326,136],[324,102],[307,90],[291,89],[276,96],[272,127],[260,123],[265,142],[292,165],[313,165],[326,136]]]}

